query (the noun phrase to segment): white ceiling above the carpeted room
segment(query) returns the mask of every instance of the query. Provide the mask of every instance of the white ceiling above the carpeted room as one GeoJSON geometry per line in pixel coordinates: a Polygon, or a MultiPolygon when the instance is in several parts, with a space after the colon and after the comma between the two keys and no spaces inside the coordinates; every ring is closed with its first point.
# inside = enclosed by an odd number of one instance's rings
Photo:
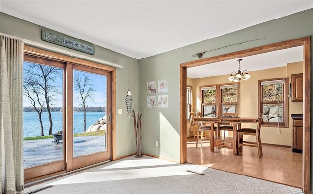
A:
{"type": "Polygon", "coordinates": [[[3,13],[136,59],[310,8],[313,0],[0,0],[3,13]]]}

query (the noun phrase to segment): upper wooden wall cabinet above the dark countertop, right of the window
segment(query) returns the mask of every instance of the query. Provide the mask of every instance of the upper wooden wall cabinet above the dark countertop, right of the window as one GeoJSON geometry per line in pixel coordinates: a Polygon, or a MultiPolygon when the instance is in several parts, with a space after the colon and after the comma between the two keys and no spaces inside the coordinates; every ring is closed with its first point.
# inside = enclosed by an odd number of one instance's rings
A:
{"type": "Polygon", "coordinates": [[[302,102],[303,100],[303,74],[291,75],[292,102],[302,102]]]}

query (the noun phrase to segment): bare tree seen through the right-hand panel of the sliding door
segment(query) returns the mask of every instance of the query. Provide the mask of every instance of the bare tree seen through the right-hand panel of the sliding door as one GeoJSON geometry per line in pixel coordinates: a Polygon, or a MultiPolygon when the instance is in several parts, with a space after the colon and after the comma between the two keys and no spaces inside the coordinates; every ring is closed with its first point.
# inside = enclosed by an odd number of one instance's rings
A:
{"type": "MultiPolygon", "coordinates": [[[[76,100],[81,101],[81,106],[84,109],[84,132],[86,131],[86,110],[88,108],[87,101],[93,101],[93,95],[96,91],[91,84],[92,79],[89,78],[85,73],[83,77],[80,74],[75,74],[74,82],[75,82],[75,90],[79,92],[79,97],[76,100]]],[[[94,102],[94,101],[93,101],[94,102]]]]}

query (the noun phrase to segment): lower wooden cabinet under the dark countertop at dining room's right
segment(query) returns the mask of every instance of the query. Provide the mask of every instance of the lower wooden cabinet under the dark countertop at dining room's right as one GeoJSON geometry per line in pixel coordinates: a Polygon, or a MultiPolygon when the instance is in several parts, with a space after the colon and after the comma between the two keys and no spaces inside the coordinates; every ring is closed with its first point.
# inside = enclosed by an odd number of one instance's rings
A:
{"type": "Polygon", "coordinates": [[[292,123],[293,123],[292,152],[302,153],[302,143],[303,143],[302,118],[292,118],[292,123]]]}

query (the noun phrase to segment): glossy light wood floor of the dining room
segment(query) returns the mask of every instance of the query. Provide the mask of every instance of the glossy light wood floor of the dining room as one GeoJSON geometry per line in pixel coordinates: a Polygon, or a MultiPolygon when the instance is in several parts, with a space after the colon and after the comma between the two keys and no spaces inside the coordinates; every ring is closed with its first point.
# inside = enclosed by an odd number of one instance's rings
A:
{"type": "Polygon", "coordinates": [[[244,146],[243,154],[235,156],[232,150],[224,148],[215,148],[213,153],[209,145],[203,142],[200,147],[199,142],[196,149],[196,142],[188,138],[187,162],[301,188],[302,154],[291,148],[264,145],[260,159],[254,147],[244,146]]]}

